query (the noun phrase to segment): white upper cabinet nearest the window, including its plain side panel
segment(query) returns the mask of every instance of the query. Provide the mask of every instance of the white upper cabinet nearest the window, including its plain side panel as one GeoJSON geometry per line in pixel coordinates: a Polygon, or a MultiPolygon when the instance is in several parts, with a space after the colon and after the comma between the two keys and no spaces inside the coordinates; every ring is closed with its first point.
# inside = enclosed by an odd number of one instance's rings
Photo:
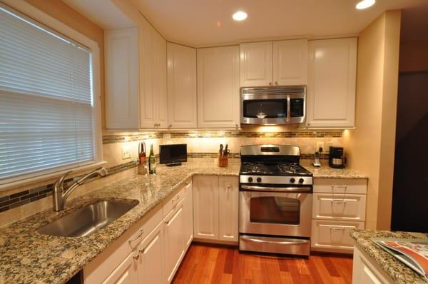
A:
{"type": "Polygon", "coordinates": [[[140,16],[138,28],[104,31],[106,128],[168,127],[166,41],[140,16]]]}

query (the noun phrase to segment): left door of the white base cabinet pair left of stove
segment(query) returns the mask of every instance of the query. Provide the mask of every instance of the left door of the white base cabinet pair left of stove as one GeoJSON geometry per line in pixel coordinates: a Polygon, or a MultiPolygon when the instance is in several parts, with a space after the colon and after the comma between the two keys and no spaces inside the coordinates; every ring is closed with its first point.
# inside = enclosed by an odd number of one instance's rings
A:
{"type": "Polygon", "coordinates": [[[218,177],[193,177],[194,237],[218,240],[218,177]]]}

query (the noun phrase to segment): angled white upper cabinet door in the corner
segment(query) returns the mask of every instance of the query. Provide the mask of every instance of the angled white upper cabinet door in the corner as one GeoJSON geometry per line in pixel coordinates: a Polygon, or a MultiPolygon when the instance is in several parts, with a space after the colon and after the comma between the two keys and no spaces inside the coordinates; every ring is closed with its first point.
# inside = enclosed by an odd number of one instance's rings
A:
{"type": "Polygon", "coordinates": [[[196,49],[168,42],[168,126],[196,128],[196,49]]]}

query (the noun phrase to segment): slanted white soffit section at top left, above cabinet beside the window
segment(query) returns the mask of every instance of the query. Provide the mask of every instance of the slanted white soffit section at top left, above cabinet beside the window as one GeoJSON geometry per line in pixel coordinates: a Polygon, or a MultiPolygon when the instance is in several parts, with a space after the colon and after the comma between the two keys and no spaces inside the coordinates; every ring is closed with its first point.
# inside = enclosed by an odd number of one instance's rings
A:
{"type": "Polygon", "coordinates": [[[103,29],[133,26],[133,22],[110,0],[62,0],[103,29]]]}

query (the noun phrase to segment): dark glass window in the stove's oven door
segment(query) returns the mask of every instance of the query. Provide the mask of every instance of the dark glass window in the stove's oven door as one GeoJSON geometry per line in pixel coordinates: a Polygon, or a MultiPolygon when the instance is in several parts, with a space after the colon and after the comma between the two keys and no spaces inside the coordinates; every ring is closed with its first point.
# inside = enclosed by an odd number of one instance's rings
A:
{"type": "Polygon", "coordinates": [[[250,199],[250,222],[298,225],[300,200],[287,197],[253,197],[250,199]]]}

